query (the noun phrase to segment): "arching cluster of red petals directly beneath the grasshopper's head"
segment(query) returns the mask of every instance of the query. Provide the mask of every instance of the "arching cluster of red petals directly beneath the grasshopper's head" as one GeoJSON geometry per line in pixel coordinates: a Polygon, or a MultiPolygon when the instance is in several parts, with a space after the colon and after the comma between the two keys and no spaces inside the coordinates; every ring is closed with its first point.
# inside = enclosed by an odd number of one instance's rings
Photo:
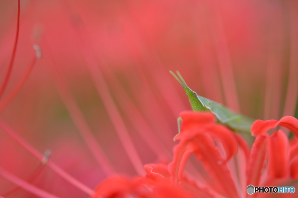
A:
{"type": "Polygon", "coordinates": [[[169,165],[174,183],[178,184],[181,179],[190,153],[195,153],[197,159],[203,163],[222,189],[231,189],[226,191],[229,197],[237,197],[237,190],[226,164],[227,160],[237,152],[237,141],[233,132],[215,123],[215,116],[211,113],[182,112],[180,116],[183,124],[180,134],[175,137],[180,143],[174,148],[174,159],[169,165]],[[222,142],[226,151],[225,158],[222,157],[212,138],[222,142]]]}

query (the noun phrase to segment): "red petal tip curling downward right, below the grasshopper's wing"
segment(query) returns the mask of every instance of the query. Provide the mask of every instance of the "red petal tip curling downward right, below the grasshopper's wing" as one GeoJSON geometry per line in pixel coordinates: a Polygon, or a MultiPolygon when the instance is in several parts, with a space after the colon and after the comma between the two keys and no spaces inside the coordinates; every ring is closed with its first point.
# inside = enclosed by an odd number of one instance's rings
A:
{"type": "Polygon", "coordinates": [[[238,151],[237,140],[235,139],[234,133],[226,128],[226,126],[220,124],[213,124],[206,127],[207,132],[212,138],[216,138],[221,141],[226,151],[226,160],[228,161],[231,157],[235,156],[238,151]]]}

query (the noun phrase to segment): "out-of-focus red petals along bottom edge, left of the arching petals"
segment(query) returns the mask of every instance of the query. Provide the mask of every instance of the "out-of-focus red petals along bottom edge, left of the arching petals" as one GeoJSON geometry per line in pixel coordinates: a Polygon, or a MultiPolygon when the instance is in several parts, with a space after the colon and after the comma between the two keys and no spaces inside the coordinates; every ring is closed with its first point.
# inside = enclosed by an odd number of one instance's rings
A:
{"type": "Polygon", "coordinates": [[[114,176],[101,183],[92,198],[120,198],[136,195],[141,198],[195,198],[212,197],[208,189],[199,188],[193,181],[183,178],[182,189],[171,183],[170,172],[165,164],[146,164],[144,177],[129,179],[114,176]]]}

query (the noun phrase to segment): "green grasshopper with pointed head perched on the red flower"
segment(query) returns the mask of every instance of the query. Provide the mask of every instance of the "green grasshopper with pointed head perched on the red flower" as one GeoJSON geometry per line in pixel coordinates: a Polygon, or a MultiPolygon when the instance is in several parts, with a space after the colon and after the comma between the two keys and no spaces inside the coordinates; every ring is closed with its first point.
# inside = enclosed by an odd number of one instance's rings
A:
{"type": "MultiPolygon", "coordinates": [[[[254,120],[252,118],[248,118],[244,115],[234,113],[229,110],[224,105],[199,96],[195,91],[191,90],[185,80],[182,78],[181,74],[177,71],[177,75],[175,75],[172,71],[170,73],[176,78],[176,80],[181,84],[183,89],[188,96],[190,101],[191,108],[193,111],[210,111],[212,112],[216,118],[217,122],[226,125],[234,132],[243,132],[246,134],[250,133],[250,128],[254,120]]],[[[178,118],[178,128],[180,132],[180,121],[181,118],[178,118]]]]}

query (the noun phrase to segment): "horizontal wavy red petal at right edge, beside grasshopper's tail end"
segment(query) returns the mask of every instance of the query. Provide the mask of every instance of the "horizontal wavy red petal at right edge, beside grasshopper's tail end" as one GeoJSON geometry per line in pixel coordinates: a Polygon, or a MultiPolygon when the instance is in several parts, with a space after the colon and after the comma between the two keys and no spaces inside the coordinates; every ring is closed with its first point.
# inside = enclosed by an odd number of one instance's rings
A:
{"type": "Polygon", "coordinates": [[[298,137],[298,120],[292,116],[285,116],[279,121],[277,120],[256,120],[252,124],[252,134],[260,135],[266,133],[269,129],[275,128],[277,125],[288,128],[298,137]]]}

